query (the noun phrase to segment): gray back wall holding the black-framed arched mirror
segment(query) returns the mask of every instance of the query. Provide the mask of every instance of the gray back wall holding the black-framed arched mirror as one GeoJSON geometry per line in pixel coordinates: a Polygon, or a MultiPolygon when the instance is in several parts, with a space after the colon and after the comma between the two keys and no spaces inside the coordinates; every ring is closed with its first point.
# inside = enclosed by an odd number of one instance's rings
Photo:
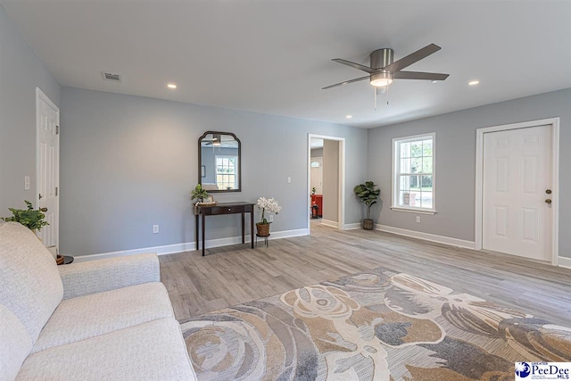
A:
{"type": "MultiPolygon", "coordinates": [[[[367,174],[365,129],[73,87],[62,87],[61,124],[62,253],[193,242],[190,191],[197,141],[207,130],[242,142],[243,191],[215,199],[276,197],[283,209],[272,231],[307,228],[308,134],[345,137],[346,223],[360,221],[352,187],[367,174]],[[160,234],[152,234],[153,224],[160,234]]],[[[207,239],[239,235],[237,215],[211,217],[208,225],[207,239]]]]}

